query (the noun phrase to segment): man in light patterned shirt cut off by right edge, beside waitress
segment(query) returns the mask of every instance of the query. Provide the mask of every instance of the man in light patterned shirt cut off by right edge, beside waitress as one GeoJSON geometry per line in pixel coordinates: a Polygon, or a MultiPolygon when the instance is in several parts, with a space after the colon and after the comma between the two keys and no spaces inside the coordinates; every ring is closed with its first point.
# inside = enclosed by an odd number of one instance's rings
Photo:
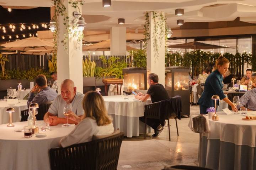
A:
{"type": "Polygon", "coordinates": [[[244,106],[247,104],[248,111],[256,111],[256,88],[246,91],[239,99],[239,102],[238,109],[245,108],[244,106]]]}

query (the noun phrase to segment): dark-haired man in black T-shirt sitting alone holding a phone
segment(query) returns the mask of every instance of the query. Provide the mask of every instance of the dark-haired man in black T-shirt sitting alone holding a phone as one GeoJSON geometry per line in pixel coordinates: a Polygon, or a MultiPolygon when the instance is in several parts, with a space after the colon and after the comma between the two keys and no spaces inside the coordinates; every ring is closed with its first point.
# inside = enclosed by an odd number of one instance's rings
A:
{"type": "MultiPolygon", "coordinates": [[[[144,95],[142,92],[139,92],[138,95],[135,95],[135,98],[146,101],[149,97],[151,98],[152,103],[154,102],[160,102],[162,100],[166,100],[169,98],[167,91],[165,90],[165,87],[158,83],[158,75],[155,73],[150,73],[148,75],[148,84],[150,85],[147,93],[144,95]]],[[[145,123],[145,117],[140,117],[140,121],[145,123]]],[[[150,119],[147,118],[147,125],[149,125],[151,128],[154,129],[155,134],[152,135],[152,137],[157,137],[161,133],[161,131],[164,129],[164,127],[160,124],[160,119],[150,119]]]]}

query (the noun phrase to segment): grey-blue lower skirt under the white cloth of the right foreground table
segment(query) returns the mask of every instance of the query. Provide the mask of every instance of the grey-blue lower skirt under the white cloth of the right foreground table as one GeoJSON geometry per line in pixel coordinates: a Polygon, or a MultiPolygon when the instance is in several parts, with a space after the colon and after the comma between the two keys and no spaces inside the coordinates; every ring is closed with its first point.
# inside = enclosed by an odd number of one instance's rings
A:
{"type": "Polygon", "coordinates": [[[202,136],[200,166],[216,170],[256,170],[256,148],[202,136]]]}

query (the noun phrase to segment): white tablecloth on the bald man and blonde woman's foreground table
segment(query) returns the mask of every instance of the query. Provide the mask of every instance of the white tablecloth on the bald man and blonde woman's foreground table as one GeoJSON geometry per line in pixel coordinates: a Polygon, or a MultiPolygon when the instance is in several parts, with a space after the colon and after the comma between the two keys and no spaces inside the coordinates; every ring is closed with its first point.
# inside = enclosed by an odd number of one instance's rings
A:
{"type": "MultiPolygon", "coordinates": [[[[40,124],[42,121],[37,121],[40,124]]],[[[50,170],[49,149],[59,146],[62,137],[69,134],[74,127],[62,128],[59,124],[51,126],[51,131],[43,132],[47,136],[25,138],[22,129],[27,121],[14,123],[14,127],[0,125],[0,169],[2,170],[50,170]]],[[[39,130],[41,132],[41,130],[39,130]]]]}

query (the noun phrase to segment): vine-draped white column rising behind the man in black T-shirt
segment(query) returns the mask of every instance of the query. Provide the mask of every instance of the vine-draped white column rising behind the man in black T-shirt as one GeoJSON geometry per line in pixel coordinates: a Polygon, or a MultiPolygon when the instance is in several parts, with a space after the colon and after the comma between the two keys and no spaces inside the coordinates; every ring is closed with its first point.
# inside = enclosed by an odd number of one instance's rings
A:
{"type": "MultiPolygon", "coordinates": [[[[164,17],[164,12],[162,12],[164,17]]],[[[156,22],[160,21],[160,17],[156,18],[156,22]]],[[[148,41],[148,50],[147,50],[147,70],[150,73],[155,73],[158,75],[159,83],[165,84],[165,35],[163,34],[162,38],[159,37],[160,29],[157,29],[157,44],[158,44],[158,52],[154,49],[154,19],[153,13],[149,13],[149,34],[150,39],[148,41]],[[161,42],[160,42],[161,40],[161,42]]],[[[164,29],[165,30],[165,29],[164,29]]]]}

